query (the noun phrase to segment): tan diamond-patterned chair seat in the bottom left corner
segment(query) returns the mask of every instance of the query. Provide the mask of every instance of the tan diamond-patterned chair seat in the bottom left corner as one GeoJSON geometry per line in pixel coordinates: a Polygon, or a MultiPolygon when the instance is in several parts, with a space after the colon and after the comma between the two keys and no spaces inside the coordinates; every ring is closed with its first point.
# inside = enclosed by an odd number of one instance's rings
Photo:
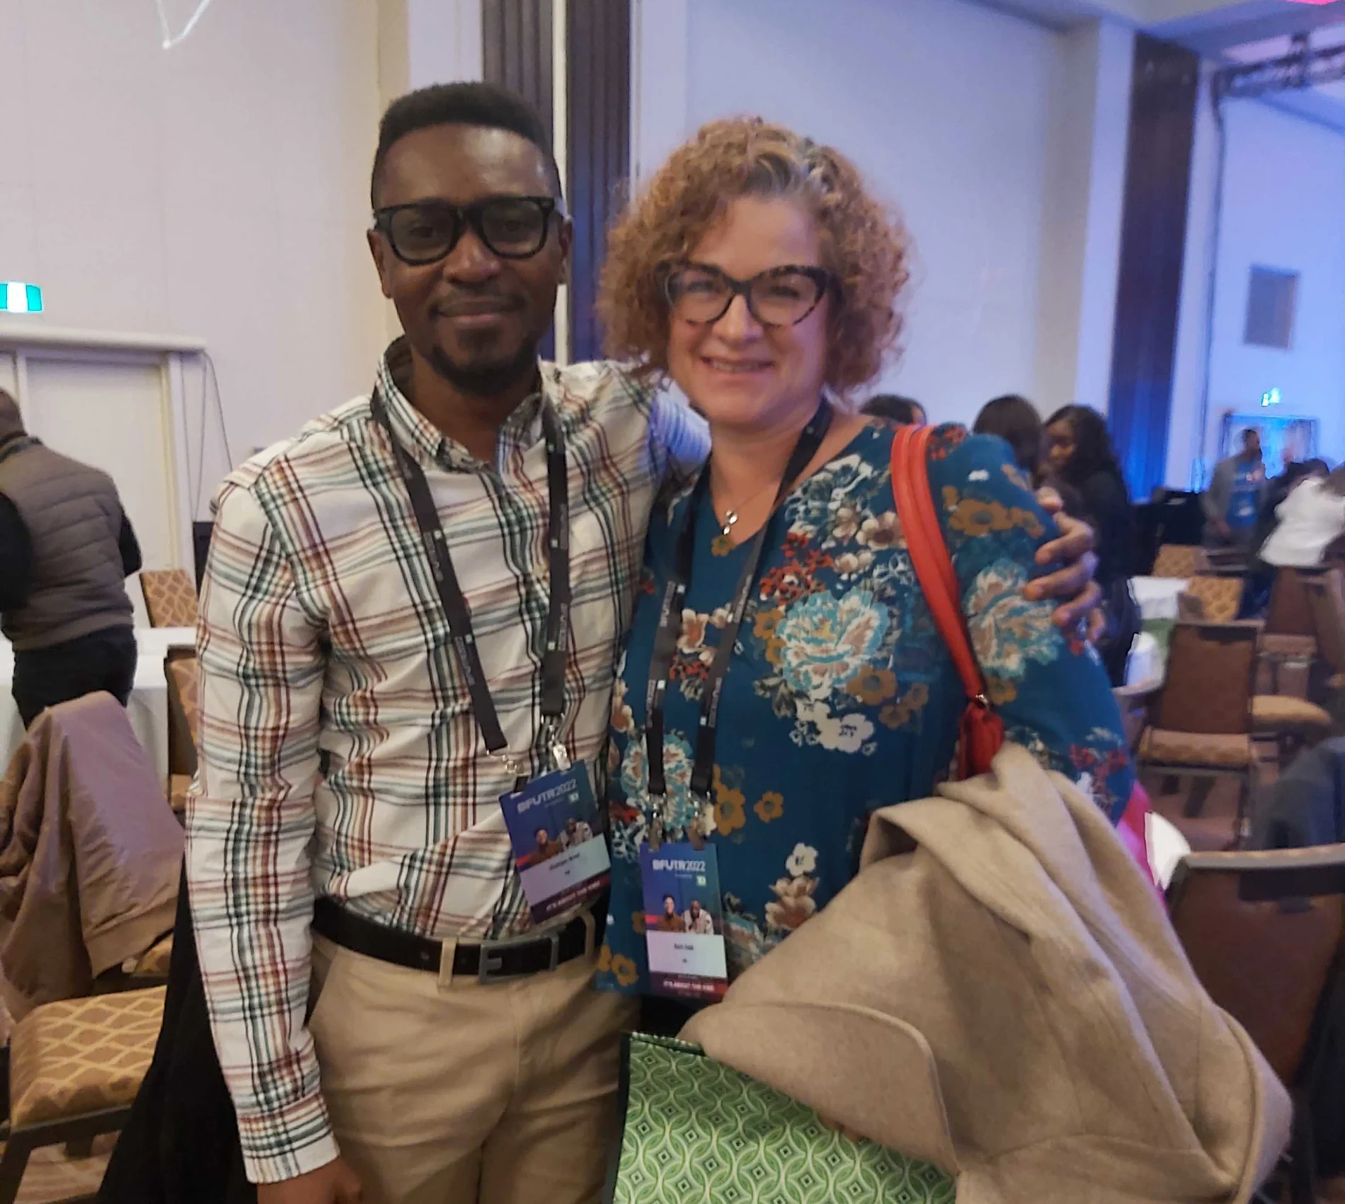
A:
{"type": "Polygon", "coordinates": [[[9,1044],[15,1130],[126,1107],[149,1068],[164,988],[62,1000],[30,1012],[9,1044]]]}

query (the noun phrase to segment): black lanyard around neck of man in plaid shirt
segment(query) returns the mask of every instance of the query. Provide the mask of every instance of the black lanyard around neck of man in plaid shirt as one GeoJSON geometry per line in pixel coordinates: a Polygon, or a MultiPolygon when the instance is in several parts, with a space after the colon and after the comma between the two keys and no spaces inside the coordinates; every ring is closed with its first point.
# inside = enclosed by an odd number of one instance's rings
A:
{"type": "MultiPolygon", "coordinates": [[[[453,571],[453,558],[448,552],[444,527],[438,521],[438,509],[430,496],[429,484],[421,466],[393,434],[387,407],[378,388],[370,398],[374,421],[383,427],[393,445],[393,456],[406,492],[412,499],[416,524],[420,527],[425,551],[429,554],[438,601],[444,607],[448,632],[457,652],[457,661],[467,679],[467,691],[472,699],[476,726],[480,728],[486,750],[495,755],[506,755],[508,740],[500,727],[495,703],[486,685],[486,671],[476,649],[476,636],[472,633],[472,613],[463,597],[453,571]]],[[[546,435],[546,485],[550,500],[547,523],[547,546],[550,548],[551,598],[546,611],[546,646],[542,650],[542,718],[546,720],[546,740],[557,767],[568,769],[569,761],[561,742],[561,719],[565,715],[565,636],[570,611],[570,504],[569,482],[565,466],[565,435],[560,419],[550,402],[542,398],[542,430],[546,435]]]]}

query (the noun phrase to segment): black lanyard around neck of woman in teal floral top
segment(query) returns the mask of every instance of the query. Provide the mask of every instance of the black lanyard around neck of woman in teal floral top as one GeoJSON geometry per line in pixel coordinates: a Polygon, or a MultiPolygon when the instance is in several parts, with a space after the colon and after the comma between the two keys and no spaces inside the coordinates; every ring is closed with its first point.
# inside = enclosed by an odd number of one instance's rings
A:
{"type": "MultiPolygon", "coordinates": [[[[816,413],[799,435],[799,442],[794,445],[794,453],[785,465],[780,488],[776,489],[775,503],[771,505],[771,516],[776,507],[788,496],[794,482],[808,466],[812,457],[818,454],[818,447],[827,435],[831,426],[831,404],[823,398],[818,403],[816,413]]],[[[659,610],[659,628],[654,636],[654,656],[650,660],[650,684],[644,696],[644,747],[650,762],[650,787],[652,798],[667,796],[667,779],[663,773],[663,701],[667,695],[668,675],[672,672],[672,658],[677,656],[678,638],[682,634],[682,605],[686,601],[687,590],[691,587],[691,564],[695,559],[695,520],[710,486],[710,465],[706,464],[691,492],[686,515],[682,519],[682,529],[677,542],[677,562],[672,575],[663,590],[663,606],[659,610]]],[[[705,679],[701,693],[701,726],[695,736],[695,761],[691,765],[691,796],[694,798],[707,798],[710,782],[714,777],[714,742],[720,723],[720,695],[724,691],[724,681],[729,676],[729,661],[733,657],[733,646],[737,644],[738,629],[742,626],[742,617],[746,614],[748,603],[752,601],[752,590],[756,585],[757,570],[761,567],[761,554],[765,550],[765,536],[771,527],[771,516],[761,524],[761,529],[752,536],[746,560],[738,574],[737,589],[733,595],[733,610],[729,621],[720,633],[720,646],[714,650],[714,660],[705,679]]]]}

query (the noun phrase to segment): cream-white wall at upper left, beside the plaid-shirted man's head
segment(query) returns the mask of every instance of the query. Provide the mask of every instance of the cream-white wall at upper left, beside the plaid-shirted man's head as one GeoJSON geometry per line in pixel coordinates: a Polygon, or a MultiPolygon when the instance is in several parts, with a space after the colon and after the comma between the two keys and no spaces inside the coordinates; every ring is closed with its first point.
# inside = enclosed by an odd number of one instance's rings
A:
{"type": "Polygon", "coordinates": [[[218,0],[171,51],[151,0],[0,0],[0,278],[43,321],[203,337],[235,461],[367,387],[371,0],[218,0]]]}

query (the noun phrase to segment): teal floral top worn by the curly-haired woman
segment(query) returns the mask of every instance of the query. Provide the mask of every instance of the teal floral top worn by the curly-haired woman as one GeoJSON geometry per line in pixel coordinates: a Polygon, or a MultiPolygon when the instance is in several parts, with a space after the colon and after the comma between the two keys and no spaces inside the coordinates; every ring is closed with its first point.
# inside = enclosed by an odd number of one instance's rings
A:
{"type": "MultiPolygon", "coordinates": [[[[714,797],[703,813],[689,790],[701,687],[748,550],[722,539],[712,505],[698,515],[666,699],[666,838],[698,824],[716,848],[730,978],[850,882],[872,812],[928,796],[954,761],[966,697],[894,513],[893,430],[878,421],[866,427],[771,520],[724,685],[714,797]]],[[[962,427],[939,430],[929,481],[1006,736],[1080,782],[1118,820],[1131,769],[1107,675],[1091,645],[1052,625],[1049,602],[1022,597],[1030,578],[1049,571],[1033,556],[1052,520],[1006,445],[962,427]]],[[[612,904],[597,985],[632,994],[647,989],[646,683],[689,493],[655,511],[612,700],[612,904]]]]}

